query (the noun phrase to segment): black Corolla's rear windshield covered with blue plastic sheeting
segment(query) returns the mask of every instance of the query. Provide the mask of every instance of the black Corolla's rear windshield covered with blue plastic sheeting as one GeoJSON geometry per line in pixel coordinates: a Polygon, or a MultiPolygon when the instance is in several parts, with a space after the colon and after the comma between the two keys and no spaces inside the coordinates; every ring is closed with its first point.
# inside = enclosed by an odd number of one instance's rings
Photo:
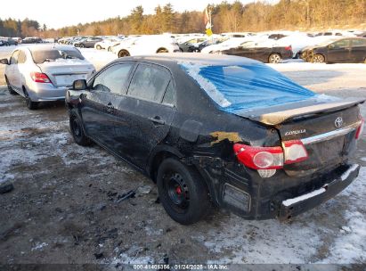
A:
{"type": "Polygon", "coordinates": [[[262,63],[240,66],[181,63],[181,67],[224,111],[250,111],[303,101],[315,95],[262,63]]]}

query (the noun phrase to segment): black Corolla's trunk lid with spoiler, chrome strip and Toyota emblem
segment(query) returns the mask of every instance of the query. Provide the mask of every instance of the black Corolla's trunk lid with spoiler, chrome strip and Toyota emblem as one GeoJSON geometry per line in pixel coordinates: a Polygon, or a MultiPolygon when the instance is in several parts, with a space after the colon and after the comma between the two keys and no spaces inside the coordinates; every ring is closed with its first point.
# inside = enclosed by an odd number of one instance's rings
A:
{"type": "MultiPolygon", "coordinates": [[[[361,125],[357,104],[364,100],[311,104],[310,101],[251,111],[248,119],[275,127],[281,141],[301,140],[308,159],[284,166],[288,175],[311,174],[337,167],[355,148],[355,133],[361,125]]],[[[244,116],[243,116],[244,117],[244,116]]]]}

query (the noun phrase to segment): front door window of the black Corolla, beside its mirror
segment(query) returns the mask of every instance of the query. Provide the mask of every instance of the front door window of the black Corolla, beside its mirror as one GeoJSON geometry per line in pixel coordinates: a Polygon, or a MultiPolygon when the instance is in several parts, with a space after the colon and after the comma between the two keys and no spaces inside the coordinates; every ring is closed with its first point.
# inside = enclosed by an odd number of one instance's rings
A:
{"type": "Polygon", "coordinates": [[[94,79],[93,90],[126,94],[126,83],[133,63],[120,63],[103,70],[94,79]]]}

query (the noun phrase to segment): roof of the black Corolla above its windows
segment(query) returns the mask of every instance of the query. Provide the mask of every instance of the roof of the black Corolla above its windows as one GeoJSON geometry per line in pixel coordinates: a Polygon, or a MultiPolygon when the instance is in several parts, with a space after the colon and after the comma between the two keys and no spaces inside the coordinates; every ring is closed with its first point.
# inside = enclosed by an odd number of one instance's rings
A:
{"type": "Polygon", "coordinates": [[[118,61],[134,60],[147,62],[175,62],[198,64],[202,66],[227,66],[227,65],[246,65],[252,63],[260,63],[245,57],[216,54],[216,53],[158,53],[153,55],[131,56],[118,61]]]}

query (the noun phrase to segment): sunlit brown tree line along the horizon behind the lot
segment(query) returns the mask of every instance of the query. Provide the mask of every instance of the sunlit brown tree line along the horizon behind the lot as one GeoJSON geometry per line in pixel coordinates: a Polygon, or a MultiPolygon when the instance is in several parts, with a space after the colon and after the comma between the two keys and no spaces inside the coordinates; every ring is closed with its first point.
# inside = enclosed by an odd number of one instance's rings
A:
{"type": "MultiPolygon", "coordinates": [[[[363,23],[366,28],[366,0],[281,0],[277,4],[254,1],[242,4],[226,1],[210,4],[214,33],[263,31],[274,29],[351,28],[363,23]]],[[[136,6],[126,17],[106,21],[47,29],[37,21],[0,19],[0,36],[65,37],[77,35],[132,35],[171,33],[203,33],[203,11],[175,12],[172,4],[158,5],[153,14],[144,14],[136,6]]]]}

